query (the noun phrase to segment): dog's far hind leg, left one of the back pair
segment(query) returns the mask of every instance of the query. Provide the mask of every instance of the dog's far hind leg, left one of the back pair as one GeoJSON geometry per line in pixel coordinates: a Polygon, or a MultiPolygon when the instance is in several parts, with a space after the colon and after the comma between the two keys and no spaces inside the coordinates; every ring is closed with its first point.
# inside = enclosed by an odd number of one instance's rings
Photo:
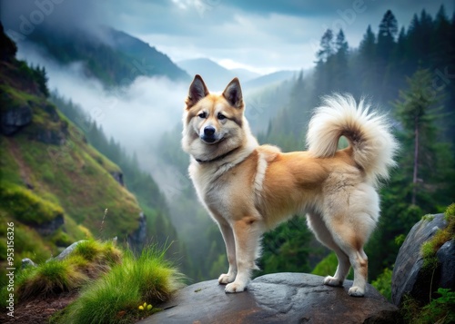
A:
{"type": "Polygon", "coordinates": [[[343,281],[346,279],[346,276],[348,276],[350,268],[348,255],[339,248],[335,241],[333,241],[332,234],[327,228],[326,223],[318,214],[308,213],[307,223],[309,229],[314,232],[318,241],[327,246],[330,250],[333,250],[339,260],[337,271],[334,276],[327,276],[324,279],[324,284],[329,286],[342,286],[343,281]]]}

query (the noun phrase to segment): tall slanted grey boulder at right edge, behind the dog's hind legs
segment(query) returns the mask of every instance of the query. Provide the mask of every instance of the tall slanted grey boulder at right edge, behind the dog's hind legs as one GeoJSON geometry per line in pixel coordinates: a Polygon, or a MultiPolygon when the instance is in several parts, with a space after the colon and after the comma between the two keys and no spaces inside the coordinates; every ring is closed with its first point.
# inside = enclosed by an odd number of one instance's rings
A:
{"type": "Polygon", "coordinates": [[[430,298],[431,287],[432,290],[437,290],[438,287],[442,287],[441,282],[451,281],[451,288],[455,289],[453,285],[453,255],[455,253],[453,251],[453,243],[447,245],[442,251],[438,251],[438,258],[442,266],[439,266],[434,273],[433,271],[422,270],[421,245],[425,241],[429,241],[437,231],[446,228],[446,226],[447,222],[444,220],[444,215],[437,214],[434,215],[431,221],[419,221],[410,230],[403,245],[399,248],[399,254],[393,268],[391,290],[392,302],[395,305],[399,306],[401,304],[405,294],[427,303],[430,298]],[[451,260],[446,260],[446,255],[448,257],[451,256],[451,260]],[[452,272],[450,272],[450,267],[452,272]],[[444,276],[442,277],[442,275],[444,276]]]}

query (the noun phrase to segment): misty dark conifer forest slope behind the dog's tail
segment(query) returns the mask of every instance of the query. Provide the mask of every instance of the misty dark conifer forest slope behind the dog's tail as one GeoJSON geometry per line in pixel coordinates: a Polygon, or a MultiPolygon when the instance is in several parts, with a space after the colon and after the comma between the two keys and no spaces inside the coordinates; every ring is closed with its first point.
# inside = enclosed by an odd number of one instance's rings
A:
{"type": "MultiPolygon", "coordinates": [[[[450,19],[444,6],[435,17],[422,10],[408,28],[399,28],[387,11],[378,30],[369,26],[357,49],[349,48],[342,30],[327,30],[314,73],[298,77],[288,103],[258,136],[283,151],[304,149],[312,110],[320,96],[334,92],[367,96],[389,112],[401,143],[399,168],[380,192],[379,228],[367,247],[370,280],[393,266],[400,243],[422,215],[455,200],[455,15],[450,19]]],[[[265,246],[264,256],[270,253],[267,240],[265,246]]],[[[274,270],[287,267],[285,262],[274,270]]]]}

